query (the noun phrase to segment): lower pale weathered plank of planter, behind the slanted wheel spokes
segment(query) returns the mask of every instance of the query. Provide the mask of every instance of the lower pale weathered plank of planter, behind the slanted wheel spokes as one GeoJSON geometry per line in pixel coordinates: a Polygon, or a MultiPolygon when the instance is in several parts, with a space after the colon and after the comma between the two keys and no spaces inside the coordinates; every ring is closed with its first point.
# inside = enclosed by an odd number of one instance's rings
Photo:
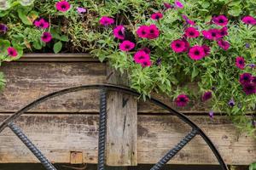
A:
{"type": "MultiPolygon", "coordinates": [[[[3,121],[7,114],[0,115],[3,121]]],[[[189,116],[205,130],[231,165],[248,165],[256,158],[256,141],[223,116],[189,116]]],[[[69,163],[71,151],[83,152],[85,163],[96,163],[98,116],[85,114],[25,115],[17,122],[50,161],[69,163]]],[[[175,116],[138,116],[138,163],[152,164],[189,132],[175,116]]],[[[0,162],[38,162],[9,130],[0,134],[0,162]]],[[[193,139],[174,157],[172,164],[217,164],[207,144],[193,139]]]]}

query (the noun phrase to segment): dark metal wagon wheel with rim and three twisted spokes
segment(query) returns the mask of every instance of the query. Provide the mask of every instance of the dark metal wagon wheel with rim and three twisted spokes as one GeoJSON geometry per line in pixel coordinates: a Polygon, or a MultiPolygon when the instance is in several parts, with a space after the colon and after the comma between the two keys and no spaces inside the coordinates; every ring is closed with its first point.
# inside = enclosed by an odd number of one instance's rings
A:
{"type": "MultiPolygon", "coordinates": [[[[43,166],[47,170],[56,170],[56,168],[50,163],[50,161],[43,155],[43,153],[38,150],[38,148],[32,144],[32,141],[26,137],[26,134],[22,132],[20,127],[15,125],[15,120],[19,118],[23,113],[26,111],[31,110],[35,106],[43,103],[46,100],[55,98],[62,94],[69,94],[73,92],[78,92],[81,90],[88,90],[88,89],[98,89],[101,90],[100,93],[100,121],[99,121],[99,139],[98,139],[98,170],[105,169],[105,143],[106,143],[106,120],[107,120],[107,91],[119,91],[125,94],[131,94],[134,96],[140,96],[136,91],[131,90],[130,88],[110,85],[110,84],[94,84],[94,85],[84,85],[75,88],[67,88],[61,91],[57,91],[52,94],[45,95],[44,97],[33,101],[31,104],[26,105],[20,111],[17,111],[12,116],[9,116],[4,122],[0,124],[0,133],[3,131],[5,127],[9,127],[17,136],[18,138],[26,144],[26,147],[32,151],[32,154],[38,158],[38,160],[43,164],[43,166]]],[[[191,127],[191,131],[174,147],[172,150],[169,150],[165,156],[163,156],[160,161],[158,161],[154,167],[150,168],[150,170],[160,170],[162,169],[168,161],[172,159],[173,156],[177,154],[179,150],[182,150],[183,147],[189,143],[191,139],[194,139],[196,135],[200,135],[202,139],[208,144],[210,149],[212,150],[214,156],[216,156],[218,163],[222,170],[228,170],[228,167],[224,163],[223,158],[220,156],[216,147],[212,144],[212,141],[207,137],[207,135],[201,130],[200,127],[197,127],[194,122],[191,122],[187,116],[173,110],[168,105],[160,102],[158,99],[150,98],[148,99],[154,105],[158,105],[161,108],[165,109],[166,111],[170,111],[170,113],[174,114],[178,118],[180,118],[183,122],[189,124],[191,127]]]]}

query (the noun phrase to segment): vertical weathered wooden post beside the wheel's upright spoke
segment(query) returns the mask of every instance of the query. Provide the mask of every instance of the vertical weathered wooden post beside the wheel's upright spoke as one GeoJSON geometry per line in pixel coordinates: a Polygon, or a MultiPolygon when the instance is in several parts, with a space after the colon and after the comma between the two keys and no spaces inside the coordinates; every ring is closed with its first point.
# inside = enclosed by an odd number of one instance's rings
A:
{"type": "MultiPolygon", "coordinates": [[[[128,78],[108,66],[108,83],[127,85],[128,78]]],[[[137,99],[108,92],[107,165],[137,166],[137,99]]]]}

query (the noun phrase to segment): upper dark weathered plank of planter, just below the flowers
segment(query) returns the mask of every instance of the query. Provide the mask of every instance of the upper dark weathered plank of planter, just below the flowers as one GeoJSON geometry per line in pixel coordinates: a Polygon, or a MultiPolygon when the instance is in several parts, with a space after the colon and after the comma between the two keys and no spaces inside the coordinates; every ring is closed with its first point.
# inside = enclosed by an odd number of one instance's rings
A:
{"type": "MultiPolygon", "coordinates": [[[[71,55],[68,57],[72,58],[71,55]]],[[[55,56],[55,62],[47,62],[47,59],[44,60],[40,55],[32,55],[32,58],[34,59],[29,60],[29,57],[25,57],[26,62],[10,62],[1,65],[0,71],[4,72],[8,82],[6,88],[0,93],[0,112],[15,112],[33,99],[63,88],[106,82],[106,65],[99,62],[60,62],[57,56],[55,56]],[[35,62],[37,59],[42,62],[35,62]]],[[[98,96],[96,91],[68,94],[51,99],[32,111],[35,113],[98,112],[99,101],[96,96],[98,96]]],[[[174,106],[171,99],[160,94],[155,96],[166,104],[174,106]]],[[[208,111],[206,105],[205,103],[190,105],[184,108],[183,112],[203,114],[208,111]]],[[[138,105],[138,112],[165,113],[166,111],[155,105],[141,102],[138,105]]]]}

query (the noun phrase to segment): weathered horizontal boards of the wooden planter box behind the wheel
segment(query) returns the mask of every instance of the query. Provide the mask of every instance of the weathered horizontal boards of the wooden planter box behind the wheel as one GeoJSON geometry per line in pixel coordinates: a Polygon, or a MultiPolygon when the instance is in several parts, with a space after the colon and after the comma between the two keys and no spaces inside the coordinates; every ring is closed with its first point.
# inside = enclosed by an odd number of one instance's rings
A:
{"type": "MultiPolygon", "coordinates": [[[[29,54],[3,63],[0,71],[7,86],[0,94],[0,122],[44,94],[82,84],[107,82],[107,65],[89,54],[29,54]]],[[[165,103],[169,99],[158,96],[165,103]]],[[[57,163],[96,163],[99,99],[95,90],[51,99],[21,116],[17,124],[38,148],[57,163]]],[[[256,141],[224,116],[211,120],[201,105],[182,112],[201,127],[230,165],[248,165],[256,160],[256,141]]],[[[138,164],[154,164],[189,132],[176,116],[139,102],[137,106],[138,164]]],[[[0,133],[0,163],[34,163],[38,160],[6,128],[0,133]]],[[[218,165],[212,151],[200,138],[193,139],[172,164],[218,165]]]]}

